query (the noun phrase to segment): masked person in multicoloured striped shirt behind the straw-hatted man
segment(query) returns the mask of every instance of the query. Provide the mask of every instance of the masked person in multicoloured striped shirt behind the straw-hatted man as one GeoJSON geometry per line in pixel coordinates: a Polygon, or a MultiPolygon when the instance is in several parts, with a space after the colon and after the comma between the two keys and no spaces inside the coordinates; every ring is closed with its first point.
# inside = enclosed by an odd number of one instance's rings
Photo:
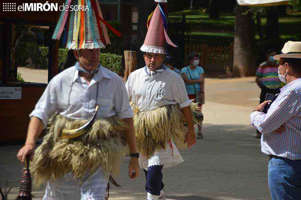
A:
{"type": "MultiPolygon", "coordinates": [[[[256,83],[261,88],[260,103],[265,101],[268,93],[280,93],[280,80],[278,78],[278,63],[273,58],[277,52],[269,49],[267,52],[267,61],[260,64],[256,72],[256,83]]],[[[261,133],[257,130],[256,138],[260,138],[261,133]]]]}

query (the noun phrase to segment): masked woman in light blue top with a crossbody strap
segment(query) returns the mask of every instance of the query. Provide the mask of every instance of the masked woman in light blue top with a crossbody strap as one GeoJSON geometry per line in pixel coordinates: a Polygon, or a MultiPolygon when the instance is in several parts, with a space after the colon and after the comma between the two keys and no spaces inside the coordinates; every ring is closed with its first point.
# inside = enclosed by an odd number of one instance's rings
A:
{"type": "MultiPolygon", "coordinates": [[[[189,99],[196,99],[196,91],[201,92],[200,102],[198,102],[201,111],[202,104],[205,103],[204,69],[198,66],[198,64],[200,63],[200,59],[197,53],[190,53],[187,57],[190,65],[182,69],[182,77],[185,82],[189,99]]],[[[199,132],[197,133],[197,138],[203,138],[201,125],[198,125],[198,129],[199,132]]]]}

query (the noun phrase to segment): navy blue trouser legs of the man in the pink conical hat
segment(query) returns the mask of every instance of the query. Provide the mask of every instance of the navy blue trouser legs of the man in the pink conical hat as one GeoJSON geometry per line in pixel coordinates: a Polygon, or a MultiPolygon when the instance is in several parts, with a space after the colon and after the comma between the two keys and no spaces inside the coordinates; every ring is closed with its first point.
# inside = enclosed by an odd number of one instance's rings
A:
{"type": "Polygon", "coordinates": [[[152,195],[160,195],[160,191],[163,190],[164,184],[162,182],[163,165],[154,165],[144,170],[146,183],[145,189],[148,193],[152,195]]]}

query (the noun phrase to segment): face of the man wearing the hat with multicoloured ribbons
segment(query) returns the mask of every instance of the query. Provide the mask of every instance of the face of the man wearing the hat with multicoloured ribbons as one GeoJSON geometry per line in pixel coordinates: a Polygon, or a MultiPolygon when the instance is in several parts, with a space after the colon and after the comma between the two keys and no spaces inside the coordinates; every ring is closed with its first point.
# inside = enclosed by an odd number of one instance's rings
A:
{"type": "Polygon", "coordinates": [[[74,51],[74,56],[77,60],[82,64],[85,70],[94,70],[97,69],[99,65],[99,56],[100,56],[100,49],[93,48],[93,49],[80,49],[74,51]]]}

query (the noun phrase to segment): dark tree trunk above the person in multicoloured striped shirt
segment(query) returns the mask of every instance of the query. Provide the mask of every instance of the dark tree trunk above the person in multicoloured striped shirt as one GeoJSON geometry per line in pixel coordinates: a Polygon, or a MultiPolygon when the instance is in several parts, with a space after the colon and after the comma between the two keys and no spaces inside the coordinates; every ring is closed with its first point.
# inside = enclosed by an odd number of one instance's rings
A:
{"type": "Polygon", "coordinates": [[[279,13],[277,6],[270,6],[267,8],[267,25],[265,29],[265,38],[267,40],[274,40],[279,38],[279,13]]]}

